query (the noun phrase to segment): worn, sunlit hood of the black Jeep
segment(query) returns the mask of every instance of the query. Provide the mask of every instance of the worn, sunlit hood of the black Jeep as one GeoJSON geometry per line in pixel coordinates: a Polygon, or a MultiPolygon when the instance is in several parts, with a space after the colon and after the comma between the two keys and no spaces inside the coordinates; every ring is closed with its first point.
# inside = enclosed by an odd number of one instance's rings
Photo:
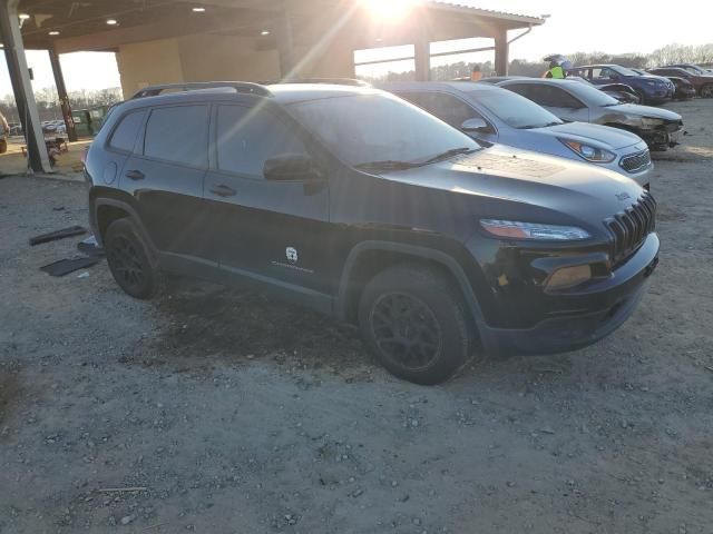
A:
{"type": "MultiPolygon", "coordinates": [[[[589,221],[589,225],[594,220],[597,226],[599,221],[635,202],[643,194],[634,180],[618,172],[502,145],[381,176],[394,181],[471,195],[480,200],[487,198],[526,204],[543,208],[545,214],[556,211],[576,220],[589,221]]],[[[482,205],[479,209],[485,212],[488,206],[482,205]]]]}

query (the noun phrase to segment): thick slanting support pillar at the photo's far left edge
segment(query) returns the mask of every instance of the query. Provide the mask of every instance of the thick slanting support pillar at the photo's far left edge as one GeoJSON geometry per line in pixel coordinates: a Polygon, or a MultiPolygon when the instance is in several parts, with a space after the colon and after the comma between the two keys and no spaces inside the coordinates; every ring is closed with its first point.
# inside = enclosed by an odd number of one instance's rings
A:
{"type": "Polygon", "coordinates": [[[4,44],[14,101],[27,139],[29,166],[36,172],[51,172],[40,115],[37,110],[30,72],[25,57],[18,3],[19,0],[0,1],[0,37],[4,44]]]}

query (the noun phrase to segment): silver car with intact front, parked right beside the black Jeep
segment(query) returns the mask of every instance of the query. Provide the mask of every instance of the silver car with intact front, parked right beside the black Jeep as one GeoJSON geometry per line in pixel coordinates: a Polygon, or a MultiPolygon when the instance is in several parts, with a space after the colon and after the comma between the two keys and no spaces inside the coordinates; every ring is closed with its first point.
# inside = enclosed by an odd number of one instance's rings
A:
{"type": "Polygon", "coordinates": [[[395,82],[381,89],[423,108],[439,119],[488,144],[588,161],[648,188],[653,168],[639,137],[606,126],[566,123],[514,92],[487,83],[395,82]]]}

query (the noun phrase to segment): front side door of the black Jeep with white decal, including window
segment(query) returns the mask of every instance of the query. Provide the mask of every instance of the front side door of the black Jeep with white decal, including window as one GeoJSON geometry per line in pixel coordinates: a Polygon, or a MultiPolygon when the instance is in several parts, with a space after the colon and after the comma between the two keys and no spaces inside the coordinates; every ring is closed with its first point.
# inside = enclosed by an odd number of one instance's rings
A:
{"type": "Polygon", "coordinates": [[[279,109],[219,103],[213,110],[205,180],[221,267],[272,284],[326,291],[329,187],[267,181],[267,159],[311,155],[310,140],[279,109]]]}

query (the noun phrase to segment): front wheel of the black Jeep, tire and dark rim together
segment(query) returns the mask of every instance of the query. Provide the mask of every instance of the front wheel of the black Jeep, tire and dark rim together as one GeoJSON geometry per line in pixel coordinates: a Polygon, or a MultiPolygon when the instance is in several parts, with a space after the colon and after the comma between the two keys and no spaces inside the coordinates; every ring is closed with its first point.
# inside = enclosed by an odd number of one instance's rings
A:
{"type": "Polygon", "coordinates": [[[434,269],[408,264],[367,284],[359,327],[391,374],[421,385],[455,376],[468,363],[475,340],[463,299],[449,280],[434,269]]]}

